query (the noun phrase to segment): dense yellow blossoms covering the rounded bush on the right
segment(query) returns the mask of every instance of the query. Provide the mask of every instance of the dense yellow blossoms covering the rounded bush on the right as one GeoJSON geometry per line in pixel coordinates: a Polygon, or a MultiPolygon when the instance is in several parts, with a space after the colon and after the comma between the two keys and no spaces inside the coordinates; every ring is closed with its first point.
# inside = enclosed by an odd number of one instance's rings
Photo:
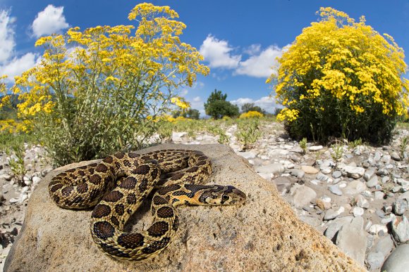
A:
{"type": "MultiPolygon", "coordinates": [[[[322,20],[303,29],[279,58],[279,73],[267,83],[288,109],[321,108],[332,97],[360,115],[379,105],[385,115],[404,115],[409,106],[409,81],[404,79],[403,49],[382,37],[365,18],[355,22],[346,13],[321,8],[322,20]],[[328,99],[326,99],[328,98],[328,99]]],[[[280,116],[288,122],[293,110],[280,116]]]]}

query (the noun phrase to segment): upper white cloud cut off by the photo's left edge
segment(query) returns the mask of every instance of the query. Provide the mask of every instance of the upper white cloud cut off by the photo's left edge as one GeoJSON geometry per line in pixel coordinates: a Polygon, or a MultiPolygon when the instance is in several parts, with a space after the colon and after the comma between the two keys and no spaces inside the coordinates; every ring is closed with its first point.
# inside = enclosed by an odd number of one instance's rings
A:
{"type": "Polygon", "coordinates": [[[11,24],[15,21],[16,19],[11,18],[8,11],[0,11],[0,63],[4,63],[13,55],[16,42],[11,24]]]}

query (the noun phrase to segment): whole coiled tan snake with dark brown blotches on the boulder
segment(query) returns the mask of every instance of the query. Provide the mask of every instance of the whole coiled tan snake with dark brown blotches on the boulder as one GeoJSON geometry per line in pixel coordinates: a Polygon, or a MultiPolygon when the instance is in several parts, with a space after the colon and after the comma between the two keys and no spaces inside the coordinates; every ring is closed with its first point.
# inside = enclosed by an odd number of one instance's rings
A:
{"type": "Polygon", "coordinates": [[[65,209],[93,208],[90,230],[99,250],[120,261],[157,256],[178,231],[178,205],[238,205],[245,193],[233,186],[202,185],[212,162],[198,150],[166,149],[116,153],[99,163],[68,169],[54,176],[49,195],[65,209]],[[153,193],[152,224],[128,233],[130,216],[153,193]]]}

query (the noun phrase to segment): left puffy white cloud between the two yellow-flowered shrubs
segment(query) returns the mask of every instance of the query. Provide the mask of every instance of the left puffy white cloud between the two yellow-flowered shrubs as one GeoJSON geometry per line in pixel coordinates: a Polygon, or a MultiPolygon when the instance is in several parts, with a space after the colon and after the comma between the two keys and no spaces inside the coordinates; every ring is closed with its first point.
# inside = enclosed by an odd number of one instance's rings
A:
{"type": "Polygon", "coordinates": [[[212,35],[207,36],[200,46],[200,53],[211,68],[236,68],[241,55],[232,55],[233,48],[227,41],[219,40],[212,35]]]}

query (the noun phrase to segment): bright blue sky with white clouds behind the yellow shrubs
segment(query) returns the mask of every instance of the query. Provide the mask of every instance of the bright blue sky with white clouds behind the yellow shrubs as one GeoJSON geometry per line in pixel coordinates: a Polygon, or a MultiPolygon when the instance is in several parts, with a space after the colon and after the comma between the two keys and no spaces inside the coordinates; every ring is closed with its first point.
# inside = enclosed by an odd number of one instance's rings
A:
{"type": "MultiPolygon", "coordinates": [[[[141,1],[0,0],[0,74],[13,77],[32,67],[41,56],[37,37],[78,26],[129,25],[128,13],[141,1]]],[[[203,103],[218,89],[239,106],[246,102],[269,112],[275,103],[265,84],[276,56],[311,22],[321,6],[331,6],[390,34],[409,51],[409,0],[269,0],[269,1],[151,1],[171,6],[187,25],[181,40],[204,55],[210,75],[198,77],[181,94],[204,114],[203,103]]],[[[408,63],[406,57],[406,63],[408,63]]],[[[407,77],[409,73],[407,74],[407,77]]]]}

